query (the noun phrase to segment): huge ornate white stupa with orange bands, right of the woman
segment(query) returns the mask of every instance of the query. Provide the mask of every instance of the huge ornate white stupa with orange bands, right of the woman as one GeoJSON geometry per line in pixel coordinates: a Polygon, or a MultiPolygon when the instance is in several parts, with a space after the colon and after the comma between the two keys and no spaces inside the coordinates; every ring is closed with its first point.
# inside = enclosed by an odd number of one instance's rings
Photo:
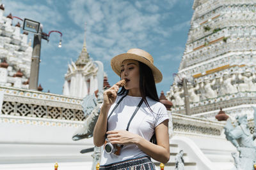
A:
{"type": "Polygon", "coordinates": [[[256,105],[255,1],[195,0],[188,41],[167,92],[172,111],[234,118],[256,105]],[[186,83],[184,83],[186,81],[186,83]],[[186,100],[185,100],[186,98],[186,100]]]}

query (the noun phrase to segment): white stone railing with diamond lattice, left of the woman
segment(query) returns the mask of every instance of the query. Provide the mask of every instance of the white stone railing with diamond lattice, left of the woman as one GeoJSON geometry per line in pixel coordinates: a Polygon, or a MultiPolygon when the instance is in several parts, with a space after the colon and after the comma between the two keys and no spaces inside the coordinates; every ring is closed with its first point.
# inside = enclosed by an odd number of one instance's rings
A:
{"type": "Polygon", "coordinates": [[[0,86],[4,91],[1,115],[84,120],[81,98],[0,86]]]}

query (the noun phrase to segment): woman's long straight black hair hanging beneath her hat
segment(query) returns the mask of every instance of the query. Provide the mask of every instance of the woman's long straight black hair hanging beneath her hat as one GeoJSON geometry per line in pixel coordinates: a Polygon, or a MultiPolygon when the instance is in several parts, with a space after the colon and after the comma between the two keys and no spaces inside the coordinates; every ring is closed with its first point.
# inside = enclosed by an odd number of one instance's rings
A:
{"type": "MultiPolygon", "coordinates": [[[[146,106],[148,107],[148,109],[152,111],[146,97],[148,96],[154,101],[159,101],[159,97],[157,96],[157,90],[156,90],[156,82],[154,80],[154,76],[150,67],[148,67],[146,64],[140,61],[139,61],[139,67],[140,67],[140,94],[146,106]]],[[[124,94],[127,95],[128,92],[129,90],[126,90],[124,87],[122,87],[122,89],[120,90],[120,92],[118,92],[117,95],[118,96],[121,96],[124,94]]]]}

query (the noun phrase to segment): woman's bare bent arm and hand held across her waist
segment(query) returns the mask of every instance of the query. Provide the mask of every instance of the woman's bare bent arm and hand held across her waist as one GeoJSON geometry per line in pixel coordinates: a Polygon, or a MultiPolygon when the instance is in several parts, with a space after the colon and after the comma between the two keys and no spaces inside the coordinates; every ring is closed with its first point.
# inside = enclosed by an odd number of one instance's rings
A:
{"type": "Polygon", "coordinates": [[[150,143],[138,134],[128,131],[108,131],[108,139],[113,144],[136,144],[140,150],[145,152],[159,162],[166,163],[170,159],[170,145],[168,134],[168,120],[164,120],[155,128],[157,145],[150,143]]]}

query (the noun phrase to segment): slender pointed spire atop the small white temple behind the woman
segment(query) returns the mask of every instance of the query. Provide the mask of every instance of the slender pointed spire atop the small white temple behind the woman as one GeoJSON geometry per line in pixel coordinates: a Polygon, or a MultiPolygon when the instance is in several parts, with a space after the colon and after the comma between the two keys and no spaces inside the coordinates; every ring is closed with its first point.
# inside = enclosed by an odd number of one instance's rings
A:
{"type": "Polygon", "coordinates": [[[86,63],[89,61],[89,54],[87,52],[87,48],[86,48],[86,23],[84,24],[84,43],[83,43],[83,49],[78,57],[78,59],[76,60],[76,66],[85,66],[86,63]]]}

